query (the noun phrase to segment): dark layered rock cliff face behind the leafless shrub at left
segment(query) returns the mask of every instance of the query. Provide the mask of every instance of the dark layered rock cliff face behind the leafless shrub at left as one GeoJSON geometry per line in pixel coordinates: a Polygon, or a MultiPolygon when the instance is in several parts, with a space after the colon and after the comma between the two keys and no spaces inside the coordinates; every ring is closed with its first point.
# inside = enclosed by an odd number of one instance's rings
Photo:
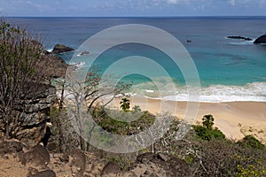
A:
{"type": "MultiPolygon", "coordinates": [[[[50,108],[56,99],[56,89],[51,85],[38,84],[37,91],[28,94],[20,101],[20,105],[12,112],[11,134],[12,137],[35,146],[43,141],[48,133],[47,121],[49,121],[50,108]]],[[[0,128],[4,122],[0,115],[0,128]]]]}

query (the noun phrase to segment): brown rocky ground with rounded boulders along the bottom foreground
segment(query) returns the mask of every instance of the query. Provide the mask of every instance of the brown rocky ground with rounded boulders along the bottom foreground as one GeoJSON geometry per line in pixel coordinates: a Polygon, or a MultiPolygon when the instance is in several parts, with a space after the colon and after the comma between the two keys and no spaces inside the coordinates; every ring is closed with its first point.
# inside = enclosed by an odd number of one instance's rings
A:
{"type": "MultiPolygon", "coordinates": [[[[102,176],[102,177],[151,177],[151,176],[168,176],[168,177],[190,177],[191,172],[189,165],[180,158],[175,158],[165,153],[154,154],[151,152],[137,156],[135,163],[129,166],[128,170],[122,170],[121,164],[117,162],[107,162],[95,154],[84,153],[82,150],[71,150],[66,154],[49,153],[49,151],[37,145],[27,150],[21,149],[23,144],[16,141],[1,141],[0,148],[12,147],[12,150],[2,150],[8,152],[0,156],[0,163],[5,162],[7,165],[0,164],[0,176],[3,172],[8,172],[8,176],[102,176]],[[13,157],[19,157],[20,165],[14,164],[13,157]],[[9,171],[12,167],[16,169],[9,171]],[[22,165],[21,165],[22,164],[22,165]],[[23,174],[16,171],[24,172],[23,174]],[[26,175],[27,174],[27,175],[26,175]]],[[[8,148],[6,148],[8,149],[8,148]]],[[[1,152],[1,151],[0,151],[1,152]]]]}

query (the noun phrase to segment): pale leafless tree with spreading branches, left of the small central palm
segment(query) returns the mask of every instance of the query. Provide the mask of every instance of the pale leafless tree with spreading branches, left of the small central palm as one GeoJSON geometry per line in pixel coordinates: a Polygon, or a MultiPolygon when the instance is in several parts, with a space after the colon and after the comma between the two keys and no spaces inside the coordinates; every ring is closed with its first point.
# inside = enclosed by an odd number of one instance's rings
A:
{"type": "MultiPolygon", "coordinates": [[[[69,72],[66,74],[66,81],[62,91],[66,96],[61,96],[65,102],[69,119],[72,120],[75,130],[80,135],[79,143],[82,150],[88,150],[89,143],[85,143],[83,137],[89,141],[91,134],[95,130],[95,122],[84,119],[87,115],[96,115],[98,109],[104,110],[107,104],[111,103],[118,95],[123,95],[131,84],[118,82],[113,84],[113,75],[101,77],[98,67],[91,67],[87,73],[85,81],[78,81],[75,65],[68,67],[69,72]],[[105,102],[105,103],[104,103],[105,102]]],[[[92,118],[98,119],[98,118],[92,118]]]]}

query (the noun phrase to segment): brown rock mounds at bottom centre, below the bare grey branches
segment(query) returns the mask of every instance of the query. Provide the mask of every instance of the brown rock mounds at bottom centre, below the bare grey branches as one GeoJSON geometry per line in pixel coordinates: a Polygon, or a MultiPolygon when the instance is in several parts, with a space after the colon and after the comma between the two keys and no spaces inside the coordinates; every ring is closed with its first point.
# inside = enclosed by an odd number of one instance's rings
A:
{"type": "Polygon", "coordinates": [[[136,164],[128,171],[122,171],[119,165],[109,162],[101,174],[103,177],[191,176],[189,166],[184,160],[164,153],[154,154],[151,152],[137,156],[136,164]]]}

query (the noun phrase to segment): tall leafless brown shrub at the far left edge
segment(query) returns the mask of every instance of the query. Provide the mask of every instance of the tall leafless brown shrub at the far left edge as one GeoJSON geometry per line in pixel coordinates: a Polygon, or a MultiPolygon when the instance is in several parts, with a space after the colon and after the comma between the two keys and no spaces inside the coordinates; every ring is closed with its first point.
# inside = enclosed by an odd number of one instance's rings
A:
{"type": "MultiPolygon", "coordinates": [[[[4,124],[6,138],[12,135],[14,110],[21,99],[34,93],[40,83],[38,63],[43,45],[38,38],[28,35],[25,29],[4,20],[0,24],[0,120],[4,124]]],[[[34,95],[34,94],[32,94],[34,95]]]]}

